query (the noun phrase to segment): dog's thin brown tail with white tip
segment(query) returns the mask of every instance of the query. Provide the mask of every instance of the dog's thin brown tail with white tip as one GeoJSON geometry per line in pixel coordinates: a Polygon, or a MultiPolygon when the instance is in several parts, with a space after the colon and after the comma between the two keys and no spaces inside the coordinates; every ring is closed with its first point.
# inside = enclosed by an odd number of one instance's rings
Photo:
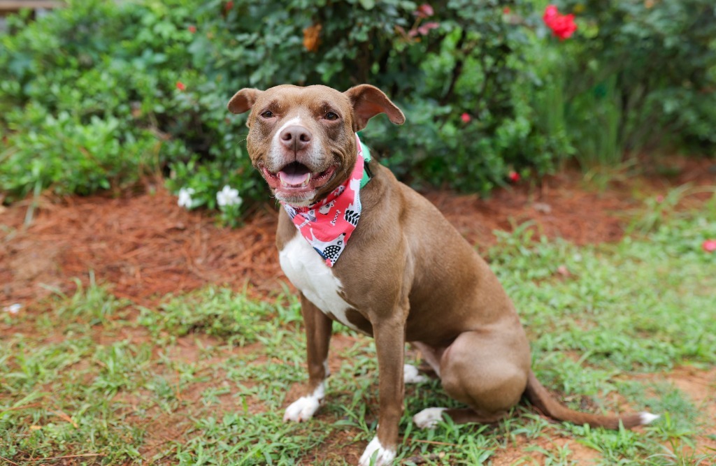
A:
{"type": "Polygon", "coordinates": [[[619,429],[619,422],[621,422],[624,427],[629,429],[638,425],[649,424],[649,422],[659,418],[659,416],[649,412],[624,414],[619,417],[574,411],[574,409],[569,409],[554,399],[547,389],[537,380],[537,377],[535,377],[535,374],[532,371],[530,371],[527,379],[527,389],[525,394],[527,395],[527,399],[548,417],[557,419],[558,421],[572,422],[578,425],[589,424],[591,427],[619,429]]]}

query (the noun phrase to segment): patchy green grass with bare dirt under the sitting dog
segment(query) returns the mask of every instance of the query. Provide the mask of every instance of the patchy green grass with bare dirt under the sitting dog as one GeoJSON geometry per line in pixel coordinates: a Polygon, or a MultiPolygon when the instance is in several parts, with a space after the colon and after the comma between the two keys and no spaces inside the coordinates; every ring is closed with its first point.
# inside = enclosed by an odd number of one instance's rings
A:
{"type": "MultiPolygon", "coordinates": [[[[403,464],[716,461],[716,452],[695,448],[714,435],[707,409],[669,379],[677,367],[716,366],[716,256],[700,248],[716,237],[716,208],[658,223],[644,218],[650,233],[584,248],[531,241],[531,230],[518,228],[501,233],[488,258],[521,310],[543,383],[577,409],[649,409],[662,419],[614,432],[551,424],[521,405],[496,426],[448,419],[421,431],[412,414],[455,405],[430,381],[407,387],[403,464]]],[[[336,325],[324,407],[311,422],[284,424],[283,408],[306,379],[301,326],[296,299],[286,294],[260,302],[207,288],[144,309],[96,283],[0,315],[0,457],[8,464],[67,457],[63,464],[78,465],[355,462],[377,422],[372,340],[336,325]]]]}

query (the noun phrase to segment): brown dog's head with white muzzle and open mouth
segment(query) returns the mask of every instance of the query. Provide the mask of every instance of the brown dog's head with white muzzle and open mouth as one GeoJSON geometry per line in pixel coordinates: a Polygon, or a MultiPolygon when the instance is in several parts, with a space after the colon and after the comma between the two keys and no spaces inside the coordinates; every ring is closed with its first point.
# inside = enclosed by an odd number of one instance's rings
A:
{"type": "Polygon", "coordinates": [[[246,147],[276,199],[306,206],[343,183],[356,162],[355,132],[385,113],[397,125],[400,109],[377,87],[339,92],[326,86],[241,89],[228,110],[248,117],[246,147]]]}

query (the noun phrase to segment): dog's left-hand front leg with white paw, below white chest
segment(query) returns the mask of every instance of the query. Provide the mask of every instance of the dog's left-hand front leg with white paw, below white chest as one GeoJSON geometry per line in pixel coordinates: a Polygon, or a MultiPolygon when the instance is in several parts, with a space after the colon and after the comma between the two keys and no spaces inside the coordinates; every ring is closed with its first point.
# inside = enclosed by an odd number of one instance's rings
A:
{"type": "Polygon", "coordinates": [[[326,392],[325,379],[328,377],[328,346],[331,341],[333,321],[311,301],[301,294],[301,314],[306,326],[306,353],[309,369],[309,383],[306,395],[286,408],[284,421],[306,421],[313,417],[321,406],[326,392]]]}

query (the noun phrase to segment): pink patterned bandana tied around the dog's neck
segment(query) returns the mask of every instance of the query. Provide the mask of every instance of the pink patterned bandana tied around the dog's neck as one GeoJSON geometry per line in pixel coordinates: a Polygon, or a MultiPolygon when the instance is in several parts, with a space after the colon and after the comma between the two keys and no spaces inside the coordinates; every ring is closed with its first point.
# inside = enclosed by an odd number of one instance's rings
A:
{"type": "Polygon", "coordinates": [[[360,183],[363,178],[363,149],[356,135],[358,157],[350,177],[334,189],[324,200],[308,207],[294,207],[281,203],[326,265],[333,267],[360,218],[360,183]]]}

